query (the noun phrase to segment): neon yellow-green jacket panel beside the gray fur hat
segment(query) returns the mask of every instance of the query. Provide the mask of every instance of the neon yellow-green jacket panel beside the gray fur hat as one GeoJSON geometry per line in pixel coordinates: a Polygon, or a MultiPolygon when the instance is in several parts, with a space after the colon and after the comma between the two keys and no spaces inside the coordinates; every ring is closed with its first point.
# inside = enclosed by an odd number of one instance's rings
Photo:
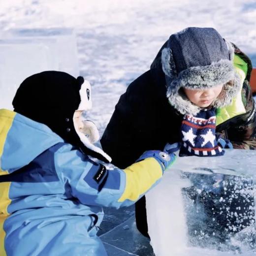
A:
{"type": "MultiPolygon", "coordinates": [[[[243,60],[240,59],[238,56],[235,55],[234,58],[234,67],[235,72],[240,76],[241,82],[243,84],[246,74],[243,69],[241,69],[240,65],[243,60]],[[239,62],[239,64],[238,64],[239,62]]],[[[240,92],[232,99],[232,102],[229,106],[218,108],[216,110],[216,125],[220,125],[221,123],[225,122],[226,120],[238,116],[240,114],[244,114],[246,112],[243,100],[242,100],[242,86],[240,92]]]]}

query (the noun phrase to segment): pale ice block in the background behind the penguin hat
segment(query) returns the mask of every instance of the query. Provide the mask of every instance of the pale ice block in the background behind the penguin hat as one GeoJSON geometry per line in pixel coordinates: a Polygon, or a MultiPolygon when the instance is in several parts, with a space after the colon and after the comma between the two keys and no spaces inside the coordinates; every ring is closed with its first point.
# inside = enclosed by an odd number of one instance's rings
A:
{"type": "Polygon", "coordinates": [[[15,29],[1,34],[0,108],[11,101],[21,82],[44,70],[79,75],[76,36],[72,29],[15,29]]]}

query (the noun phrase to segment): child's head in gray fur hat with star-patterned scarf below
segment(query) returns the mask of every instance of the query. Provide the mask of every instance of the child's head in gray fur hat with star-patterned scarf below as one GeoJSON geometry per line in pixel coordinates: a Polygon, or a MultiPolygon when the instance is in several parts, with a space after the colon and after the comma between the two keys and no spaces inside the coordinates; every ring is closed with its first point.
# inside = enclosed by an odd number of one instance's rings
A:
{"type": "Polygon", "coordinates": [[[241,91],[245,76],[233,60],[233,46],[210,28],[173,34],[162,50],[169,103],[184,114],[180,156],[224,154],[216,138],[216,109],[229,106],[236,110],[241,102],[232,105],[232,100],[241,91]]]}

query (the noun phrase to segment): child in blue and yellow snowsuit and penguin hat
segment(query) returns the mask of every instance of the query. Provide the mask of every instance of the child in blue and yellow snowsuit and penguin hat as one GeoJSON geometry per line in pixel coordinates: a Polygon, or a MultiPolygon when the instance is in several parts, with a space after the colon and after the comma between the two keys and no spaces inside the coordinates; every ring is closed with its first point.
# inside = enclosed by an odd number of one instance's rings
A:
{"type": "Polygon", "coordinates": [[[32,75],[13,106],[0,110],[0,255],[106,256],[96,236],[102,206],[133,204],[174,155],[147,151],[124,170],[91,160],[111,159],[93,145],[97,129],[83,119],[91,88],[82,77],[32,75]]]}

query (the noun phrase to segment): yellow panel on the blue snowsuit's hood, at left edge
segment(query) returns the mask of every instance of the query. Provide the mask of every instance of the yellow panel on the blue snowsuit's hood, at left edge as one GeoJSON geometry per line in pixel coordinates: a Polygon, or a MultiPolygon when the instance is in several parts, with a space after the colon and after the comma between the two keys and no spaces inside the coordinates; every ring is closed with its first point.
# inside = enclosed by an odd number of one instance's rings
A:
{"type": "Polygon", "coordinates": [[[3,153],[4,143],[9,129],[12,126],[16,113],[6,109],[0,109],[0,175],[7,174],[7,171],[1,169],[1,156],[3,153]]]}

